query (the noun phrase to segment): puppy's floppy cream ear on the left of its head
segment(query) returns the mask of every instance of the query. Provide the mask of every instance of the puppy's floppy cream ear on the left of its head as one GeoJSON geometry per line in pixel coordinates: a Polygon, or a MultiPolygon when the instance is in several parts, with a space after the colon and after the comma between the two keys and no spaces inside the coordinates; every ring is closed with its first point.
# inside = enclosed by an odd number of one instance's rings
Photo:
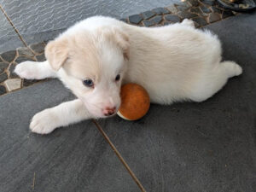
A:
{"type": "Polygon", "coordinates": [[[67,39],[60,38],[50,41],[45,47],[45,57],[55,71],[58,71],[67,60],[67,44],[67,39]]]}

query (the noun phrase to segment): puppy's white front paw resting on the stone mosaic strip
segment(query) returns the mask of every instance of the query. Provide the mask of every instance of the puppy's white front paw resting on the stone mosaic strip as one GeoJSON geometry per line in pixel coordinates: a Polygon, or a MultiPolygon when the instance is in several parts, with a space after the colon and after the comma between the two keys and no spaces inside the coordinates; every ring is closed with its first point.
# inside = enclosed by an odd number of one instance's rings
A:
{"type": "Polygon", "coordinates": [[[38,66],[35,61],[21,62],[15,67],[15,73],[22,79],[37,79],[38,66]]]}

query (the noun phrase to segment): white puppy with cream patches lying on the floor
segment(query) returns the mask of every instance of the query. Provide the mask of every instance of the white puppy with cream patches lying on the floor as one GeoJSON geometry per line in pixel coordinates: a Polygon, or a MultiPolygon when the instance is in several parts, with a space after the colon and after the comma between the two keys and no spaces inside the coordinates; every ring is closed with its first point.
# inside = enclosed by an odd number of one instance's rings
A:
{"type": "Polygon", "coordinates": [[[82,20],[45,48],[47,61],[20,63],[20,78],[60,78],[78,99],[37,113],[33,132],[117,112],[121,84],[141,84],[151,102],[202,102],[242,70],[221,61],[221,44],[193,22],[154,28],[131,26],[108,17],[82,20]]]}

